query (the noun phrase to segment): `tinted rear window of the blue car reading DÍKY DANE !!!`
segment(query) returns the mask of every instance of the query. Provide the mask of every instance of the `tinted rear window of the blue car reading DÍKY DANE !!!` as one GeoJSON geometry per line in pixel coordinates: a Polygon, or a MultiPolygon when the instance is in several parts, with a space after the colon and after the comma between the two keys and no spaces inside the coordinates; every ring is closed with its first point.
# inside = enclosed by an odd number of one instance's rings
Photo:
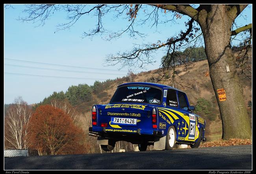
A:
{"type": "Polygon", "coordinates": [[[110,100],[110,103],[115,102],[137,102],[160,104],[162,97],[161,89],[148,86],[125,86],[119,87],[110,100]]]}

